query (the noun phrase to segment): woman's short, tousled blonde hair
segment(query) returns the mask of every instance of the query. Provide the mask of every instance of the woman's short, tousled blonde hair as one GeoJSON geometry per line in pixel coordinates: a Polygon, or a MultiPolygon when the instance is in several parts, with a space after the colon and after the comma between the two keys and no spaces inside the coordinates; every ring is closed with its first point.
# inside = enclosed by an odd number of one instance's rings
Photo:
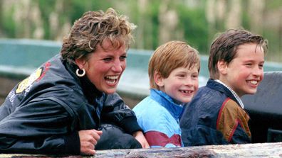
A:
{"type": "Polygon", "coordinates": [[[133,23],[127,21],[127,16],[117,15],[114,9],[110,8],[105,13],[88,11],[75,21],[71,33],[63,39],[62,59],[71,64],[75,59],[87,58],[97,45],[103,47],[104,40],[109,40],[113,48],[122,45],[128,48],[135,28],[133,23]]]}

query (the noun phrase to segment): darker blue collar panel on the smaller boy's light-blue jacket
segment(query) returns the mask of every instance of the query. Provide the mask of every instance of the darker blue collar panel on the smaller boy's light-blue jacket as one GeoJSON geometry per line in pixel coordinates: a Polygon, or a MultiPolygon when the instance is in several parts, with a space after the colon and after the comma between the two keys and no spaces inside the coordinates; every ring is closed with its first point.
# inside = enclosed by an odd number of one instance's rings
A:
{"type": "Polygon", "coordinates": [[[150,96],[153,100],[160,103],[161,106],[167,109],[169,113],[176,119],[179,119],[183,111],[183,106],[174,103],[173,99],[165,94],[163,91],[158,91],[157,89],[150,89],[150,96]]]}

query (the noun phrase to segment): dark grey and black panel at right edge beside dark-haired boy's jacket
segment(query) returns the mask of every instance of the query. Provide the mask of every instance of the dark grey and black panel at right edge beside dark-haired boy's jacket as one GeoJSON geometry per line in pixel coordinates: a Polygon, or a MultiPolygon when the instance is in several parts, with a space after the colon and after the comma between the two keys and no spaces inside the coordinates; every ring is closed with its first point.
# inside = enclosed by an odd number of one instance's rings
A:
{"type": "Polygon", "coordinates": [[[282,131],[281,79],[282,71],[264,72],[256,94],[242,97],[246,111],[251,117],[251,142],[282,142],[281,135],[274,137],[273,133],[269,132],[271,129],[282,131]]]}

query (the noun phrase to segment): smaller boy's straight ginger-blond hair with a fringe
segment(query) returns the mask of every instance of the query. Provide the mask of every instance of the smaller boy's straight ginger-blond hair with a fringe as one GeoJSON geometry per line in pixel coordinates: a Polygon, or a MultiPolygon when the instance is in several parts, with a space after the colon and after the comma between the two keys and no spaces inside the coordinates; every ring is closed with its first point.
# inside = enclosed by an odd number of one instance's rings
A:
{"type": "Polygon", "coordinates": [[[200,69],[199,52],[182,41],[170,41],[157,47],[157,50],[150,57],[148,74],[150,79],[150,89],[158,89],[154,80],[155,72],[166,79],[169,74],[178,67],[197,67],[200,69]]]}

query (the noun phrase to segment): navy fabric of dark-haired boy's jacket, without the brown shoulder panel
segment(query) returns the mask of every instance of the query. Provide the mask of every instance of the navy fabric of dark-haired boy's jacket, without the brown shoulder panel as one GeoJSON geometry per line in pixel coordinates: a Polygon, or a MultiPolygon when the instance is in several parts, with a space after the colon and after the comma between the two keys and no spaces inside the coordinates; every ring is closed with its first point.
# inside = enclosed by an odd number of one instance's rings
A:
{"type": "MultiPolygon", "coordinates": [[[[251,142],[241,125],[236,127],[231,140],[226,140],[223,134],[216,129],[219,111],[227,98],[230,98],[238,108],[241,108],[231,91],[212,79],[209,79],[207,86],[199,89],[192,101],[185,106],[180,119],[184,146],[251,142]]],[[[244,111],[244,109],[241,108],[240,111],[244,111]]]]}

